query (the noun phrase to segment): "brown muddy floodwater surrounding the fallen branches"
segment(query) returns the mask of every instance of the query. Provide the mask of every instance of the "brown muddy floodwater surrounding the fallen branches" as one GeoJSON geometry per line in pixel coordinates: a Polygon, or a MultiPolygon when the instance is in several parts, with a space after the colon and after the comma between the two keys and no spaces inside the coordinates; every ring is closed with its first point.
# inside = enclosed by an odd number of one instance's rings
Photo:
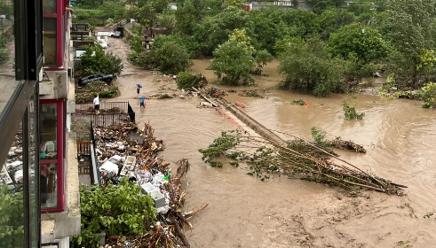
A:
{"type": "MultiPolygon", "coordinates": [[[[194,62],[193,71],[213,81],[214,75],[204,71],[208,61],[194,62]]],[[[122,76],[122,96],[116,100],[130,101],[137,120],[151,120],[155,136],[167,140],[162,155],[168,161],[191,163],[185,210],[210,203],[190,220],[191,247],[436,247],[436,112],[415,101],[355,95],[346,98],[365,117],[343,120],[344,96],[316,98],[274,89],[281,80],[276,66],[276,61],[266,66],[270,76],[257,80],[266,98],[231,93],[226,99],[249,105],[243,111],[266,128],[311,139],[315,126],[367,145],[367,154],[339,153],[366,171],[407,185],[407,195],[361,190],[349,196],[339,188],[278,176],[261,182],[243,167],[209,167],[198,149],[235,127],[213,109],[196,108],[202,101],[197,97],[147,100],[147,108],[139,110],[136,83],[146,94],[182,92],[174,82],[159,81],[160,74],[122,76]],[[309,105],[289,105],[298,98],[309,105]],[[435,214],[428,219],[426,213],[435,214]]]]}

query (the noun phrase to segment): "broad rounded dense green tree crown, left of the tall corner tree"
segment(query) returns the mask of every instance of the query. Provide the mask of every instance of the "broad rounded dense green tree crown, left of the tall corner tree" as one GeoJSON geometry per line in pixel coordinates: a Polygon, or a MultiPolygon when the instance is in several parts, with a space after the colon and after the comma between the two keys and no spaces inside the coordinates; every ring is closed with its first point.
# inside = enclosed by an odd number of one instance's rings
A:
{"type": "Polygon", "coordinates": [[[337,33],[331,34],[328,48],[334,56],[345,59],[354,53],[361,65],[385,58],[389,50],[377,29],[359,23],[341,27],[337,33]]]}

